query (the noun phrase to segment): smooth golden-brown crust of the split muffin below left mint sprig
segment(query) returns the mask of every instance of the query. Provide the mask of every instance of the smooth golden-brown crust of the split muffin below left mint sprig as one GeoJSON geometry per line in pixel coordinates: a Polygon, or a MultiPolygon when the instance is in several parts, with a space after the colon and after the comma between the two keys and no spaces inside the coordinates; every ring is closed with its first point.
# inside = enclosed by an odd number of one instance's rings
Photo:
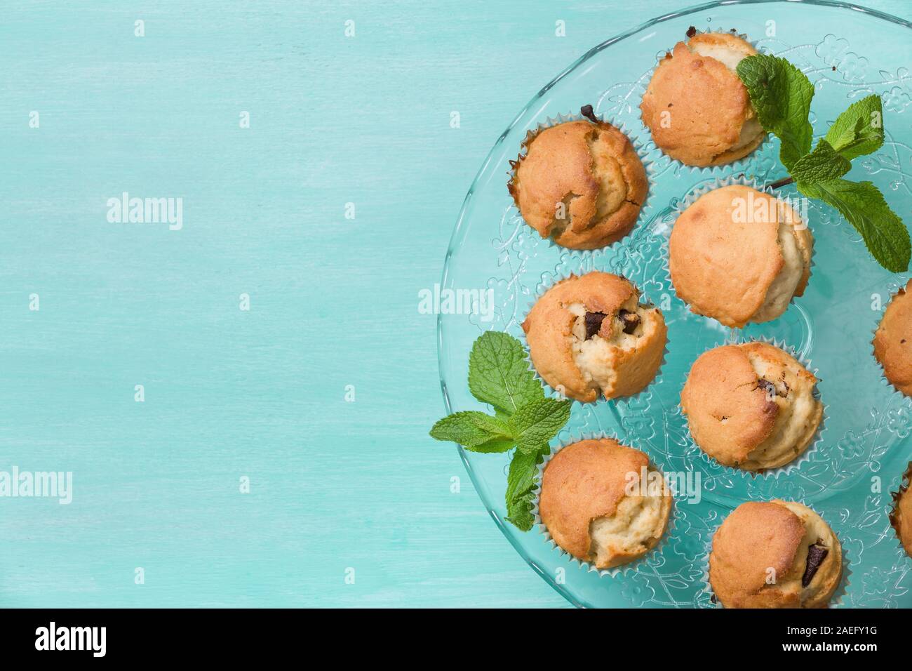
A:
{"type": "Polygon", "coordinates": [[[544,467],[539,515],[554,541],[586,561],[593,519],[610,517],[626,496],[627,474],[648,467],[649,457],[612,438],[581,440],[555,454],[544,467]]]}

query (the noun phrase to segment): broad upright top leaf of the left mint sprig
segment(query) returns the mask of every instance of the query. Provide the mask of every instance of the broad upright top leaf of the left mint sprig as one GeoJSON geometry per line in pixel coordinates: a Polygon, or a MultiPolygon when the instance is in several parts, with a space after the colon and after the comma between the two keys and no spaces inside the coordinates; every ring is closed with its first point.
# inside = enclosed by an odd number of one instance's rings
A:
{"type": "Polygon", "coordinates": [[[472,345],[469,390],[503,413],[514,413],[524,404],[544,398],[542,385],[529,370],[523,343],[496,330],[485,331],[472,345]]]}

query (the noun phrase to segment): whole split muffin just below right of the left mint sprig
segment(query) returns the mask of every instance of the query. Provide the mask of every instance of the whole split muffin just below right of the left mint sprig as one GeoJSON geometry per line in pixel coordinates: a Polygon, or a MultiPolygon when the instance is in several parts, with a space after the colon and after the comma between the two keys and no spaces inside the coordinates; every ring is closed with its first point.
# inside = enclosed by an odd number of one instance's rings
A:
{"type": "Polygon", "coordinates": [[[668,526],[671,493],[639,450],[610,438],[581,440],[545,465],[538,513],[563,550],[610,569],[658,544],[668,526]]]}

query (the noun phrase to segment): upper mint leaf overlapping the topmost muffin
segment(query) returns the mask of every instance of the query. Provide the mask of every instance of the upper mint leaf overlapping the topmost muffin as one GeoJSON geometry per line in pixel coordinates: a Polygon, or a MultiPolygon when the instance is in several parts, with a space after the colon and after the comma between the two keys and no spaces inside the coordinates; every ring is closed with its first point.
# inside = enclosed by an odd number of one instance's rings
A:
{"type": "Polygon", "coordinates": [[[779,158],[789,172],[811,151],[811,99],[814,85],[785,58],[755,54],[738,64],[738,77],[751,96],[763,130],[782,142],[779,158]]]}

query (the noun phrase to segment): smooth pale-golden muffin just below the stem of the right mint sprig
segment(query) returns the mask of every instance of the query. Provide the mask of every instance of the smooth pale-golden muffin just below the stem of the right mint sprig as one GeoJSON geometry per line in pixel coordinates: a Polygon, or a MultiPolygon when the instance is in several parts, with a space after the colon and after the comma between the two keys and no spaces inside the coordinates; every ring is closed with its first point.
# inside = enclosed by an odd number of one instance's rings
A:
{"type": "Polygon", "coordinates": [[[741,328],[774,320],[811,277],[814,237],[793,207],[741,184],[701,195],[668,240],[668,270],[692,312],[741,328]]]}

